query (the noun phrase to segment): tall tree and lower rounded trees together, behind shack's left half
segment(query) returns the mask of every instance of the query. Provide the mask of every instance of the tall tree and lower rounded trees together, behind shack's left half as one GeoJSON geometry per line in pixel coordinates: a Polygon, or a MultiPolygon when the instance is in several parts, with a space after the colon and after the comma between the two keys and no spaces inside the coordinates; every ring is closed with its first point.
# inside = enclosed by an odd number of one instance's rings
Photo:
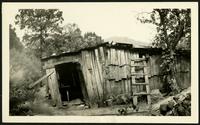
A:
{"type": "Polygon", "coordinates": [[[57,9],[20,9],[15,18],[15,23],[26,31],[23,43],[34,50],[37,57],[76,51],[102,42],[95,33],[82,36],[75,23],[61,27],[64,19],[62,11],[57,9]]]}

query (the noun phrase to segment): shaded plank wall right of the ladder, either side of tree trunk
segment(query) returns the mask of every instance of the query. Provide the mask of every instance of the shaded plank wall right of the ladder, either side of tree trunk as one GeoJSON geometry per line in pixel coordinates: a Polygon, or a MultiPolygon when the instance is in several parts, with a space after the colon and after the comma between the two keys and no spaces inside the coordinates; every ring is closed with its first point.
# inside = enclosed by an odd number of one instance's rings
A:
{"type": "MultiPolygon", "coordinates": [[[[162,82],[161,73],[161,55],[152,55],[148,62],[150,67],[150,88],[163,89],[164,83],[162,82]]],[[[191,85],[191,62],[187,56],[177,56],[176,59],[176,79],[177,84],[181,88],[187,88],[191,85]]]]}

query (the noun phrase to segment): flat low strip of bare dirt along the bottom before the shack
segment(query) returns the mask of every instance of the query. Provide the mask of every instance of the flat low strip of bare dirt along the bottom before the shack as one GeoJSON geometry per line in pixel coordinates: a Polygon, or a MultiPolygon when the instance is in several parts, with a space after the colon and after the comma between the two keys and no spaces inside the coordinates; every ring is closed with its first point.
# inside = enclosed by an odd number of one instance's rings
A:
{"type": "MultiPolygon", "coordinates": [[[[124,106],[112,106],[112,107],[102,107],[102,108],[90,108],[90,109],[73,109],[73,108],[57,108],[57,107],[50,107],[50,106],[43,106],[43,112],[35,112],[34,115],[56,115],[56,116],[109,116],[109,115],[116,115],[120,116],[118,109],[123,108],[124,106]],[[48,110],[47,112],[45,111],[48,110]]],[[[139,116],[148,116],[150,113],[148,111],[139,112],[133,111],[132,109],[128,109],[126,115],[139,115],[139,116]]]]}

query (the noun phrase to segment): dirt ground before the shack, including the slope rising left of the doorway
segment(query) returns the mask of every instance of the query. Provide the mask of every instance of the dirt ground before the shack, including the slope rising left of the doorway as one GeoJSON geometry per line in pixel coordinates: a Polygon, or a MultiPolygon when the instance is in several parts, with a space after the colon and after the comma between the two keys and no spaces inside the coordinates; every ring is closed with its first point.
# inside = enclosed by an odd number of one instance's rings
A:
{"type": "MultiPolygon", "coordinates": [[[[39,115],[39,116],[107,116],[107,115],[120,115],[118,112],[119,109],[125,107],[125,105],[114,105],[109,107],[101,107],[101,108],[87,108],[85,109],[81,104],[73,105],[74,103],[81,103],[73,102],[73,104],[67,103],[67,106],[62,106],[60,108],[53,107],[50,100],[46,99],[45,97],[41,96],[45,95],[45,88],[41,88],[40,92],[38,93],[37,98],[33,104],[31,104],[31,115],[39,115]]],[[[146,110],[146,106],[140,104],[139,111],[136,112],[132,108],[127,109],[127,115],[141,115],[147,116],[150,115],[149,112],[146,110]],[[145,107],[145,108],[144,108],[145,107]]]]}

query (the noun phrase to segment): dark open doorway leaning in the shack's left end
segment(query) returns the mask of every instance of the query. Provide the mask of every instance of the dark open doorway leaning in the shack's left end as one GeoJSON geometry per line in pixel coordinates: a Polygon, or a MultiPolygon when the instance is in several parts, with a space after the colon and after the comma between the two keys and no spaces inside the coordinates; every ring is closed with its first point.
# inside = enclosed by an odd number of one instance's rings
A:
{"type": "Polygon", "coordinates": [[[62,101],[83,100],[85,92],[83,75],[79,63],[56,65],[59,90],[62,101]]]}

